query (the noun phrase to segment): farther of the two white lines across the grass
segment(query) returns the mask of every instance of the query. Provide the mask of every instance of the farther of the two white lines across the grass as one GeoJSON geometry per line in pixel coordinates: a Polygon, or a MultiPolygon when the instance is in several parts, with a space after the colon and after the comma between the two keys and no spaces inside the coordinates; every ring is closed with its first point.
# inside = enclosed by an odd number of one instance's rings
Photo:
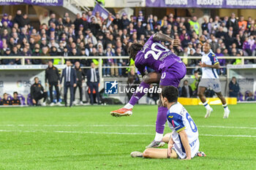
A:
{"type": "MultiPolygon", "coordinates": [[[[155,127],[155,125],[15,125],[7,124],[0,125],[2,127],[155,127]]],[[[224,125],[197,125],[198,128],[236,128],[236,129],[256,129],[256,127],[241,127],[241,126],[224,126],[224,125]]]]}

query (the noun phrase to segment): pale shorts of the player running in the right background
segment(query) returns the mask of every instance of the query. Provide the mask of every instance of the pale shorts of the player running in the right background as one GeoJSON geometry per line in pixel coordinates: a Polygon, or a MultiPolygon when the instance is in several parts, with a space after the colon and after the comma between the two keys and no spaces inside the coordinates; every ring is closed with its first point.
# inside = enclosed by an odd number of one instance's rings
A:
{"type": "Polygon", "coordinates": [[[211,88],[215,93],[222,91],[219,79],[202,79],[199,82],[199,87],[211,88]]]}

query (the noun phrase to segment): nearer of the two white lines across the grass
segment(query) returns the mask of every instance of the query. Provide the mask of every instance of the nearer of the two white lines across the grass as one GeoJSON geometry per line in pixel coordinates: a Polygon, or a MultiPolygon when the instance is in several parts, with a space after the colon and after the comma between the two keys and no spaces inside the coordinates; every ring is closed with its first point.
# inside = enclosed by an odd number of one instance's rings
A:
{"type": "MultiPolygon", "coordinates": [[[[20,132],[20,133],[59,133],[59,134],[118,134],[118,135],[152,135],[146,133],[125,133],[125,132],[97,132],[97,131],[14,131],[14,130],[0,130],[0,132],[20,132]]],[[[222,135],[222,134],[200,134],[199,136],[219,136],[219,137],[246,137],[256,138],[252,135],[222,135]]]]}

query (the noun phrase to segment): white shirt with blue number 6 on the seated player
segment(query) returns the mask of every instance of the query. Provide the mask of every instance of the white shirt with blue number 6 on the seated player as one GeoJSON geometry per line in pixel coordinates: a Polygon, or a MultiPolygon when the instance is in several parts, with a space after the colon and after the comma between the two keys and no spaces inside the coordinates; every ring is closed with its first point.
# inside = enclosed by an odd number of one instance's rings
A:
{"type": "Polygon", "coordinates": [[[189,145],[191,147],[191,158],[193,158],[199,150],[198,131],[195,122],[190,117],[187,110],[180,104],[176,103],[170,107],[167,112],[167,120],[170,129],[173,131],[173,149],[179,158],[186,158],[186,151],[181,143],[181,137],[178,132],[185,130],[189,145]]]}

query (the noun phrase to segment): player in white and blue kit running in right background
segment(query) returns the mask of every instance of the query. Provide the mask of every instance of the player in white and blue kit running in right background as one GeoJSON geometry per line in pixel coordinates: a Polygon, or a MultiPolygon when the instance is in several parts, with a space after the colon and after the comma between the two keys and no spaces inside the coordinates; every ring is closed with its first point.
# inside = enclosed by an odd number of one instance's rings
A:
{"type": "Polygon", "coordinates": [[[219,82],[219,76],[217,74],[216,69],[219,69],[219,61],[216,55],[211,51],[211,45],[208,42],[203,44],[203,52],[205,53],[200,61],[199,65],[202,67],[202,80],[198,85],[198,96],[203,103],[203,106],[206,107],[206,115],[205,117],[209,117],[211,112],[214,110],[210,107],[208,102],[206,101],[206,96],[204,93],[206,88],[212,88],[214,92],[217,94],[219,99],[222,101],[222,106],[224,107],[224,116],[223,118],[228,118],[230,115],[230,110],[227,107],[227,102],[225,97],[222,96],[222,89],[219,82]]]}

